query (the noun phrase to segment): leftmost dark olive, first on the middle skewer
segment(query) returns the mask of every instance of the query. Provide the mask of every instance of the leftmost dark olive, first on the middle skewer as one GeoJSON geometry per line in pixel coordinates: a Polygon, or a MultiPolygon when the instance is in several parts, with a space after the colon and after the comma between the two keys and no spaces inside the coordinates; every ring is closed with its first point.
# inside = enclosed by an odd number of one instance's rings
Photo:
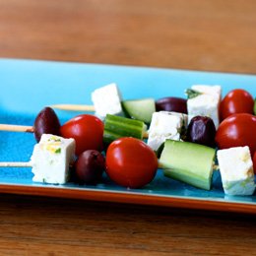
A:
{"type": "Polygon", "coordinates": [[[59,118],[51,107],[44,107],[33,123],[34,137],[39,142],[43,133],[60,135],[59,118]]]}

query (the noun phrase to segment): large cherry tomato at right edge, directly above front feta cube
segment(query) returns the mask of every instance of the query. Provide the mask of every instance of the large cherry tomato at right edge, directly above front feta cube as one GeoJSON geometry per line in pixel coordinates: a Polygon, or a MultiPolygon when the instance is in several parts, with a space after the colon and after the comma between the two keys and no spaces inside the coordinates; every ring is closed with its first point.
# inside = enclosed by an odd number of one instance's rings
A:
{"type": "Polygon", "coordinates": [[[219,149],[248,146],[251,156],[256,151],[256,116],[247,113],[233,114],[224,119],[217,130],[219,149]]]}

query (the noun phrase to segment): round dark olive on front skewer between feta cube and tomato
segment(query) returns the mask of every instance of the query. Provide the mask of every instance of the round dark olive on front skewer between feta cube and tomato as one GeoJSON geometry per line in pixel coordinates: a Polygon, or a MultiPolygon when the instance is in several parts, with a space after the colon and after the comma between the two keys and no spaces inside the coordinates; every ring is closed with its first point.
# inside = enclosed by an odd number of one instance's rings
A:
{"type": "Polygon", "coordinates": [[[75,169],[80,183],[96,184],[105,169],[104,157],[96,150],[85,151],[76,161],[75,169]]]}

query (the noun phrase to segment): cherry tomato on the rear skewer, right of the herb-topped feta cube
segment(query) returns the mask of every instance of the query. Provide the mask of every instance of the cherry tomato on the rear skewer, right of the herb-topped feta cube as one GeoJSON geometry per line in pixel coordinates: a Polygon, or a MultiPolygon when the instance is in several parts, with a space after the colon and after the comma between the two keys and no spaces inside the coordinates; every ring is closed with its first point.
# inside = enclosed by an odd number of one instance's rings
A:
{"type": "Polygon", "coordinates": [[[242,89],[230,91],[221,101],[221,120],[235,113],[253,114],[253,97],[242,89]]]}

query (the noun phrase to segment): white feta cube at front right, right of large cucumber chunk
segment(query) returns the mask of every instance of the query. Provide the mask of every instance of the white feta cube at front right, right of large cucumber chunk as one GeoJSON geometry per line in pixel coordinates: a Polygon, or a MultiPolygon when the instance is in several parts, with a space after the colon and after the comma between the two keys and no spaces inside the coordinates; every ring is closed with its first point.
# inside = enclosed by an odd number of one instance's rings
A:
{"type": "Polygon", "coordinates": [[[217,152],[224,193],[252,195],[255,190],[253,163],[249,148],[235,147],[217,152]]]}

